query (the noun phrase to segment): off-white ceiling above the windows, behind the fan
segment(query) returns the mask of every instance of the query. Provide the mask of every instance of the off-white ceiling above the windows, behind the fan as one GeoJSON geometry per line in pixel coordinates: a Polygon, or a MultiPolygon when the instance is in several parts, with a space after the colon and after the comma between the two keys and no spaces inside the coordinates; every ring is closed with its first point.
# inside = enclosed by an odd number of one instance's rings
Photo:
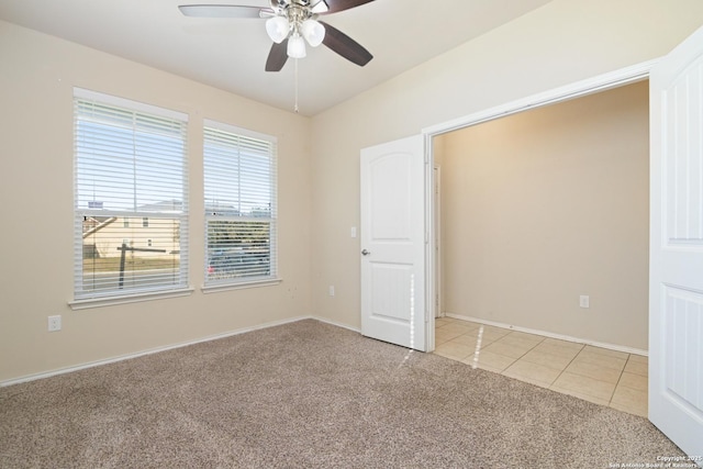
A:
{"type": "MultiPolygon", "coordinates": [[[[365,46],[358,67],[324,45],[298,62],[299,112],[315,115],[550,0],[376,0],[324,21],[365,46]]],[[[199,0],[0,0],[0,19],[292,111],[295,64],[264,71],[259,19],[183,16],[199,0]]],[[[268,0],[204,0],[268,7],[268,0]]]]}

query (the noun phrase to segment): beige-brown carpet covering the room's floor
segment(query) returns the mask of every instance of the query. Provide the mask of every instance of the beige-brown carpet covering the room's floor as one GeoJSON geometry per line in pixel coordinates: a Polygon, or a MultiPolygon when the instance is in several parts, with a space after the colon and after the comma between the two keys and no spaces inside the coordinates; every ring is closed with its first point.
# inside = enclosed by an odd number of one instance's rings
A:
{"type": "Polygon", "coordinates": [[[607,468],[647,420],[306,320],[0,389],[2,468],[607,468]]]}

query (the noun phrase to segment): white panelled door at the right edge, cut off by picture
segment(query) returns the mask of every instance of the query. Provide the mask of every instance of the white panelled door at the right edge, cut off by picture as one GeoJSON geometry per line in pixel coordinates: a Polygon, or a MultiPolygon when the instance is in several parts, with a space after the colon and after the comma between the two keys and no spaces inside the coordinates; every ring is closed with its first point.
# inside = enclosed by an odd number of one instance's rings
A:
{"type": "Polygon", "coordinates": [[[702,457],[703,29],[652,68],[649,92],[649,420],[702,457]]]}

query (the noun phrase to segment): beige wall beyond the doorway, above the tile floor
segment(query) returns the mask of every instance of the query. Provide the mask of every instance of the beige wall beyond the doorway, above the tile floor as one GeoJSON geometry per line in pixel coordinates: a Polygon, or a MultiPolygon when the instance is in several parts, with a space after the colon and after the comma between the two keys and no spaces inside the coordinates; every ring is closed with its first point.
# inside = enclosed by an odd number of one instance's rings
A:
{"type": "Polygon", "coordinates": [[[648,348],[648,103],[643,81],[438,137],[446,312],[648,348]]]}

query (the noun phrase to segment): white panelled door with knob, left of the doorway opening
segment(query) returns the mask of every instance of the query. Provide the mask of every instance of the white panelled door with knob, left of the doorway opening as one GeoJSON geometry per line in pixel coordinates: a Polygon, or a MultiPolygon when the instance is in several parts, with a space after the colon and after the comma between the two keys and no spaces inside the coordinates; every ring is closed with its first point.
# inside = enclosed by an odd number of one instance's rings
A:
{"type": "Polygon", "coordinates": [[[361,150],[361,334],[425,351],[422,135],[361,150]]]}

